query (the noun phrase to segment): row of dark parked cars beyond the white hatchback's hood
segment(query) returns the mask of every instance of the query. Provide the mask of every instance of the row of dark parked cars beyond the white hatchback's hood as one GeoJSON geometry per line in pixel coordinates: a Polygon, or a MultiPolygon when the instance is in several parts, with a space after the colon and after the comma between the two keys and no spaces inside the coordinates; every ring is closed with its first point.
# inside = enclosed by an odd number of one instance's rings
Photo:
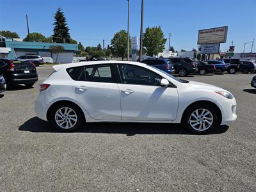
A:
{"type": "Polygon", "coordinates": [[[179,74],[179,76],[188,76],[188,74],[205,75],[207,73],[222,74],[227,71],[229,74],[243,72],[248,74],[256,70],[256,63],[248,60],[223,59],[196,61],[194,58],[168,58],[168,59],[148,59],[141,61],[147,65],[153,65],[167,73],[179,74]]]}

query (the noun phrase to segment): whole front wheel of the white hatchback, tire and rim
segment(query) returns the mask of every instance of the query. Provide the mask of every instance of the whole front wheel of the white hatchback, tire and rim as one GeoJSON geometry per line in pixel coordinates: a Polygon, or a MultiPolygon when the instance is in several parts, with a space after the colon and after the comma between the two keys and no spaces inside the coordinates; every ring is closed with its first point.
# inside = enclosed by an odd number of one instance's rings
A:
{"type": "Polygon", "coordinates": [[[191,106],[184,115],[183,124],[196,134],[208,133],[220,125],[216,110],[207,104],[191,106]]]}

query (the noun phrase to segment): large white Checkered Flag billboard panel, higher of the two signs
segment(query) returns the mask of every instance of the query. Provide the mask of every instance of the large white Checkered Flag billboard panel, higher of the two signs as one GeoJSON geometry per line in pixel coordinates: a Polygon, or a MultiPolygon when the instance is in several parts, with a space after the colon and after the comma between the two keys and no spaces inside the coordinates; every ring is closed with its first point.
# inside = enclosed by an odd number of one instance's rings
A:
{"type": "Polygon", "coordinates": [[[197,44],[221,44],[227,40],[228,27],[203,29],[198,31],[197,44]]]}

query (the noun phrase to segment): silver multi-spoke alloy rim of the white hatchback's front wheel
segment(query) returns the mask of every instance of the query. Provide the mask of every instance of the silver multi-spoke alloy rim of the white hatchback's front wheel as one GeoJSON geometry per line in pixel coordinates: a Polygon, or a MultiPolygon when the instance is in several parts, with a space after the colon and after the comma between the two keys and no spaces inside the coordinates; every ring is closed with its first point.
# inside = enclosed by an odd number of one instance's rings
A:
{"type": "Polygon", "coordinates": [[[213,115],[208,109],[196,109],[189,116],[189,124],[196,131],[205,131],[213,124],[213,115]]]}

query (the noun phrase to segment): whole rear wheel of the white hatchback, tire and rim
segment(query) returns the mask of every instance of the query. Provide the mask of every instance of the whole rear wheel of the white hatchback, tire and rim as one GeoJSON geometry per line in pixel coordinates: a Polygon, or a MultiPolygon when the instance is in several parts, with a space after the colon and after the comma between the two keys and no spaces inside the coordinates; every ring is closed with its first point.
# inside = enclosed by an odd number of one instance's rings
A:
{"type": "Polygon", "coordinates": [[[83,112],[74,104],[58,104],[52,109],[50,122],[60,131],[72,132],[84,123],[83,112]]]}

